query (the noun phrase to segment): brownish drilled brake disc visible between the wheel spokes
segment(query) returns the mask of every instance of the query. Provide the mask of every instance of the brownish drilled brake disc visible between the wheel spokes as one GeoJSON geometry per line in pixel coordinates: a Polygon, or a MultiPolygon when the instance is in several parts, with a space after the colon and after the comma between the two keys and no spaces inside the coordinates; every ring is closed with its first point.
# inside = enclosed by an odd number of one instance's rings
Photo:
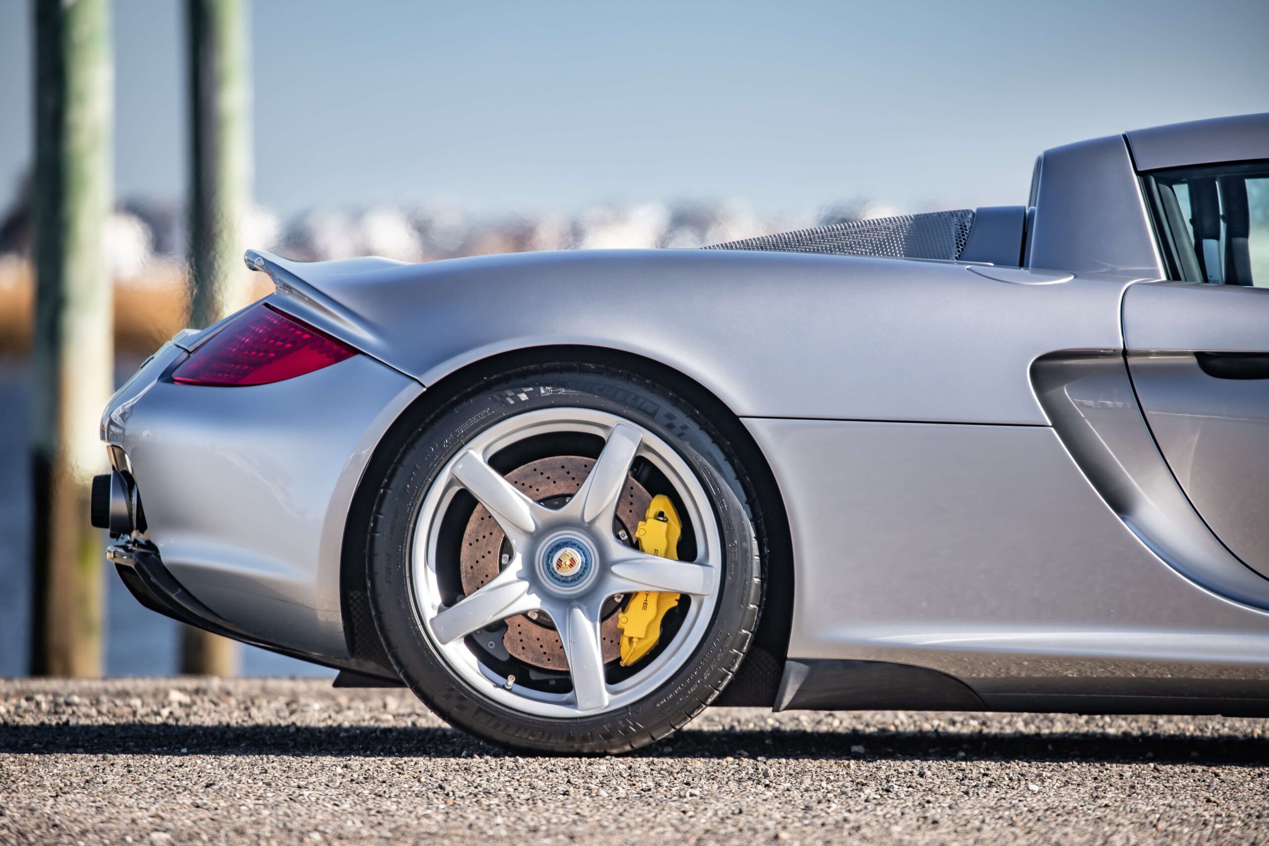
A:
{"type": "MultiPolygon", "coordinates": [[[[515,468],[506,474],[506,481],[524,491],[524,495],[530,500],[543,502],[576,493],[594,464],[593,458],[579,455],[542,458],[515,468]]],[[[614,530],[623,529],[629,539],[627,543],[633,544],[634,529],[647,514],[647,506],[651,502],[652,495],[633,477],[626,477],[626,488],[622,491],[622,498],[617,506],[618,526],[614,526],[614,530]]],[[[477,505],[467,521],[467,529],[463,531],[463,552],[459,566],[464,594],[471,596],[494,576],[497,576],[497,571],[501,569],[504,539],[503,529],[499,528],[483,505],[477,505]]],[[[604,662],[619,658],[622,648],[621,630],[617,628],[617,606],[604,618],[599,627],[599,634],[604,662]]],[[[508,618],[503,644],[510,654],[534,667],[561,671],[569,668],[563,644],[560,643],[560,635],[556,630],[530,620],[523,614],[508,618]]]]}

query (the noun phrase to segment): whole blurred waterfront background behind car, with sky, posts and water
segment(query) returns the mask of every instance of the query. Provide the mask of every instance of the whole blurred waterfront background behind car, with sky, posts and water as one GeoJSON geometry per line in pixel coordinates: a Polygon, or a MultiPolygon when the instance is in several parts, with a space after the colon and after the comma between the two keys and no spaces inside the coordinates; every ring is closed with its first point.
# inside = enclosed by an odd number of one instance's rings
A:
{"type": "Polygon", "coordinates": [[[334,675],[183,634],[86,526],[113,386],[246,247],[697,247],[1025,202],[1269,110],[1269,4],[0,0],[0,676],[334,675]]]}

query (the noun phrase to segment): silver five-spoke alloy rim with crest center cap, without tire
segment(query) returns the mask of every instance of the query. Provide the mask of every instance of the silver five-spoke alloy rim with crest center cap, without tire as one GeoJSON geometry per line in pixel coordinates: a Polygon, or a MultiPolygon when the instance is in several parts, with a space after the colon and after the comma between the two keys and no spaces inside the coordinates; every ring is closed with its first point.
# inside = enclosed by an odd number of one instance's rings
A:
{"type": "Polygon", "coordinates": [[[591,408],[548,408],[509,417],[480,433],[438,474],[414,524],[410,562],[424,630],[472,687],[539,717],[590,717],[651,694],[692,656],[709,628],[721,578],[722,542],[704,488],[664,440],[618,415],[591,408]],[[599,435],[604,449],[572,498],[548,509],[524,496],[487,459],[506,446],[551,433],[599,435]],[[695,561],[647,556],[622,544],[613,519],[636,458],[650,460],[674,486],[695,531],[695,561]],[[489,583],[452,608],[442,602],[438,535],[454,495],[468,491],[506,534],[510,561],[489,583]],[[608,684],[600,647],[600,610],[617,594],[659,590],[690,596],[673,641],[648,666],[608,684]],[[486,667],[466,635],[528,611],[544,611],[560,633],[574,690],[543,693],[508,684],[486,667]]]}

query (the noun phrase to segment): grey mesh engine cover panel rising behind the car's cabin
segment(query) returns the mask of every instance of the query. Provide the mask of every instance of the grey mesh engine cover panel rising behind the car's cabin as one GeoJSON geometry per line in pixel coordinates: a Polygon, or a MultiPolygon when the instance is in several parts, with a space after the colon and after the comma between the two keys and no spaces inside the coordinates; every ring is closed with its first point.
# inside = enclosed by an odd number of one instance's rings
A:
{"type": "Polygon", "coordinates": [[[706,250],[777,250],[827,255],[872,255],[893,259],[959,259],[970,240],[973,211],[900,214],[849,221],[756,238],[716,244],[706,250]]]}

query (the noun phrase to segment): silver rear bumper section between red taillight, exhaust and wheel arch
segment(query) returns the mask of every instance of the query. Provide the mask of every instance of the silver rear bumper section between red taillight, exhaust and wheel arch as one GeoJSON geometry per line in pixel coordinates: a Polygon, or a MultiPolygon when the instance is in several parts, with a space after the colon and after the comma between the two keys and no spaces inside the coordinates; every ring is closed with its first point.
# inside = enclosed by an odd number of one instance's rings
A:
{"type": "Polygon", "coordinates": [[[128,586],[156,586],[142,591],[151,600],[197,596],[176,602],[181,613],[239,641],[350,666],[340,591],[349,507],[383,433],[423,387],[363,355],[263,386],[175,384],[185,354],[165,345],[103,417],[112,467],[145,521],[124,537],[160,556],[170,578],[131,564],[128,586]]]}

